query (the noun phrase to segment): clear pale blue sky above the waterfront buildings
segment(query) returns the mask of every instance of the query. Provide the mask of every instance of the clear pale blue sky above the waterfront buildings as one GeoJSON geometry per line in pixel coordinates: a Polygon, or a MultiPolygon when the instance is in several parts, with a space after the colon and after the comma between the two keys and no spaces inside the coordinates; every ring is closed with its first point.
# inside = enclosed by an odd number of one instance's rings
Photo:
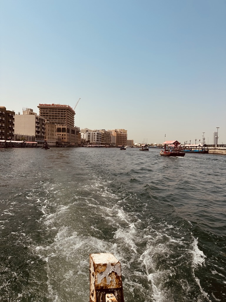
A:
{"type": "Polygon", "coordinates": [[[0,105],[134,143],[226,144],[225,0],[0,0],[0,105]]]}

